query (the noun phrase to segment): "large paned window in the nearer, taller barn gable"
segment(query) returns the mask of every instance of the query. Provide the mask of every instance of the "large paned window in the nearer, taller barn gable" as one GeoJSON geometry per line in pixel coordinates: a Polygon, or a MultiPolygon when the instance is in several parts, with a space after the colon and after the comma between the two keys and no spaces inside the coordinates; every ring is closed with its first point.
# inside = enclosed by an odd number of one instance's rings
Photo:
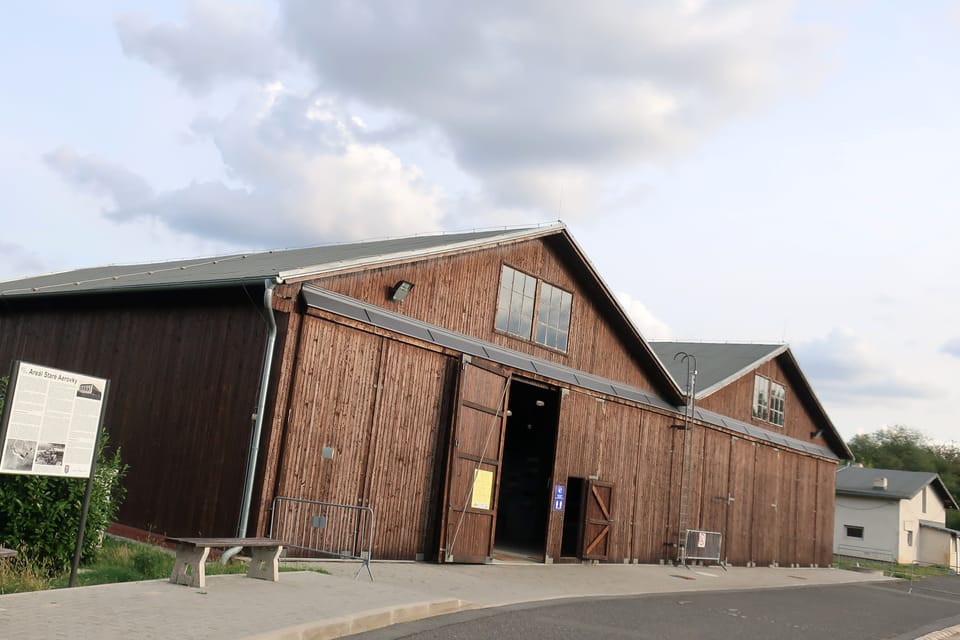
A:
{"type": "Polygon", "coordinates": [[[494,327],[565,352],[572,303],[573,295],[569,291],[503,265],[494,327]],[[536,333],[533,332],[534,316],[536,333]]]}

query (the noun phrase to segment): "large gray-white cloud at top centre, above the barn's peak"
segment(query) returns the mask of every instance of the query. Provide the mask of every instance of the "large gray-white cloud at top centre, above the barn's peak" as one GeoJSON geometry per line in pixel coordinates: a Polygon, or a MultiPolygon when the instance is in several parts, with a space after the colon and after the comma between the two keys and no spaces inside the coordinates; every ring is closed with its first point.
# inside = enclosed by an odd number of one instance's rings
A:
{"type": "Polygon", "coordinates": [[[672,157],[815,65],[790,6],[287,0],[281,24],[325,87],[442,132],[495,204],[566,191],[569,215],[604,170],[672,157]]]}

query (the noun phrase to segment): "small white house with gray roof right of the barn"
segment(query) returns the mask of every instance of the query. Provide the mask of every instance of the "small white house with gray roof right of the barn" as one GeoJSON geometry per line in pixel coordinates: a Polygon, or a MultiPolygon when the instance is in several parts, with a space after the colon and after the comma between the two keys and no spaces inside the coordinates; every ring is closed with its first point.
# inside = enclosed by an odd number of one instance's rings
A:
{"type": "Polygon", "coordinates": [[[936,473],[843,467],[837,471],[834,552],[957,569],[960,532],[945,525],[957,503],[936,473]]]}

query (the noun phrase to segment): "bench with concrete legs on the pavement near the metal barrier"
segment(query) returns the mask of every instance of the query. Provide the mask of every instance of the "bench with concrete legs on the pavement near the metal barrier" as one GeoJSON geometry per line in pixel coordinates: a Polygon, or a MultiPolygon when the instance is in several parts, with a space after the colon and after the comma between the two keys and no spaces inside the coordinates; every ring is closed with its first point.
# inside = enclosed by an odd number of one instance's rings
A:
{"type": "Polygon", "coordinates": [[[204,563],[210,549],[248,547],[251,550],[250,568],[247,576],[277,582],[280,579],[280,552],[283,543],[271,538],[167,538],[177,545],[177,558],[173,563],[170,582],[191,587],[207,586],[204,563]]]}

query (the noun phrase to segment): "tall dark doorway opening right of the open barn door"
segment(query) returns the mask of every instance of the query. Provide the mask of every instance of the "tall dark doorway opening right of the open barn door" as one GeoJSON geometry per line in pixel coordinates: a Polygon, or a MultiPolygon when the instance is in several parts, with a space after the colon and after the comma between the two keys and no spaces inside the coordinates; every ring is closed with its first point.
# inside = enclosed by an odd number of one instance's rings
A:
{"type": "Polygon", "coordinates": [[[494,546],[498,554],[543,561],[560,392],[510,383],[494,546]]]}

